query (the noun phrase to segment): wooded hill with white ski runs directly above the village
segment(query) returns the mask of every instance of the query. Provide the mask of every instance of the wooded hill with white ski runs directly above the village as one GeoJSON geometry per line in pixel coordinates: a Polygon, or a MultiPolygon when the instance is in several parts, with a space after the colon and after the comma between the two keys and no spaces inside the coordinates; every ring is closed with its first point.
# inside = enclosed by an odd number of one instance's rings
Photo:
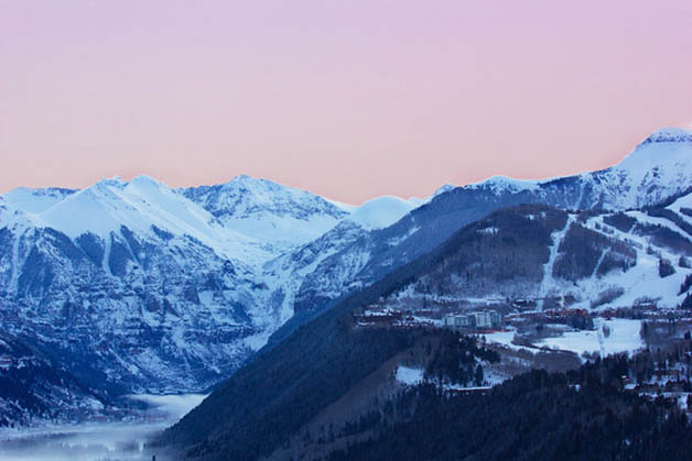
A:
{"type": "MultiPolygon", "coordinates": [[[[681,305],[692,281],[692,194],[646,211],[498,210],[455,233],[386,304],[488,305],[561,298],[573,308],[681,305]]],[[[554,304],[553,304],[554,306],[554,304]]]]}

